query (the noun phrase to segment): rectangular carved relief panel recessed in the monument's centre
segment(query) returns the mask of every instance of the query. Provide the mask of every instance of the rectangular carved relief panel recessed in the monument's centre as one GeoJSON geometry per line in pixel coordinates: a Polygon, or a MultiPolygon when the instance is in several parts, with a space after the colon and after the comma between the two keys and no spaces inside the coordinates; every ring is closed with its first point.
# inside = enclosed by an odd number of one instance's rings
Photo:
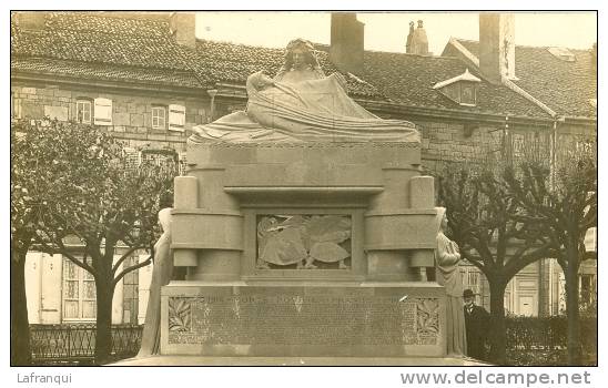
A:
{"type": "Polygon", "coordinates": [[[347,215],[260,215],[257,268],[348,269],[351,234],[347,215]]]}

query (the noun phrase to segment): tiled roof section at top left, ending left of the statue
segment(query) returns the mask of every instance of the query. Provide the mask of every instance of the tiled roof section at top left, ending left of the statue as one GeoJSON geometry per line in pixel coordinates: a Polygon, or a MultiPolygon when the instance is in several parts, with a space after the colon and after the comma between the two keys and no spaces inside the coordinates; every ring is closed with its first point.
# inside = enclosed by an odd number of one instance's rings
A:
{"type": "Polygon", "coordinates": [[[205,88],[161,19],[50,12],[42,30],[11,20],[11,69],[112,81],[205,88]]]}

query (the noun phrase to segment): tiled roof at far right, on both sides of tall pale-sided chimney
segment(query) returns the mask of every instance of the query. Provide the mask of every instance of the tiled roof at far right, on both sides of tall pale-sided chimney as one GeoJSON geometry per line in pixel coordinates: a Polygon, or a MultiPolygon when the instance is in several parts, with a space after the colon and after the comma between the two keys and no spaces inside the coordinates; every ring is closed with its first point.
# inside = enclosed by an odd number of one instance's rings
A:
{"type": "MultiPolygon", "coordinates": [[[[479,42],[457,40],[479,58],[479,42]]],[[[449,43],[448,43],[449,44],[449,43]]],[[[518,86],[558,114],[596,118],[589,100],[597,99],[597,70],[590,50],[569,49],[576,61],[554,57],[546,47],[515,47],[515,75],[518,86]]]]}

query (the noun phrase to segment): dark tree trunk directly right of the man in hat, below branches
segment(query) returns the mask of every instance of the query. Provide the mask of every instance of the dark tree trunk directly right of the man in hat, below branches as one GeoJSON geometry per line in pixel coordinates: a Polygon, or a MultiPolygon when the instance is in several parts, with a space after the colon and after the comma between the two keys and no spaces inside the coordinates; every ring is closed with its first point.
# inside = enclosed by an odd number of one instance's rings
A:
{"type": "Polygon", "coordinates": [[[506,361],[507,329],[505,324],[505,288],[506,283],[488,277],[489,283],[489,312],[492,330],[490,360],[498,365],[506,361]]]}

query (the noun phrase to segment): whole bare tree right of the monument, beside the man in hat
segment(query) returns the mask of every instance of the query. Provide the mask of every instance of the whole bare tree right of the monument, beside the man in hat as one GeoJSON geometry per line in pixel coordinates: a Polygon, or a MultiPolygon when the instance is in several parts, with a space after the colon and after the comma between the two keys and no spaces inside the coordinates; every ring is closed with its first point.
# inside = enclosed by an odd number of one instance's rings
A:
{"type": "Polygon", "coordinates": [[[463,258],[486,276],[490,288],[490,358],[506,358],[505,288],[527,265],[546,257],[537,219],[521,221],[519,204],[504,181],[507,165],[453,164],[439,174],[439,203],[447,208],[453,239],[463,258]]]}

